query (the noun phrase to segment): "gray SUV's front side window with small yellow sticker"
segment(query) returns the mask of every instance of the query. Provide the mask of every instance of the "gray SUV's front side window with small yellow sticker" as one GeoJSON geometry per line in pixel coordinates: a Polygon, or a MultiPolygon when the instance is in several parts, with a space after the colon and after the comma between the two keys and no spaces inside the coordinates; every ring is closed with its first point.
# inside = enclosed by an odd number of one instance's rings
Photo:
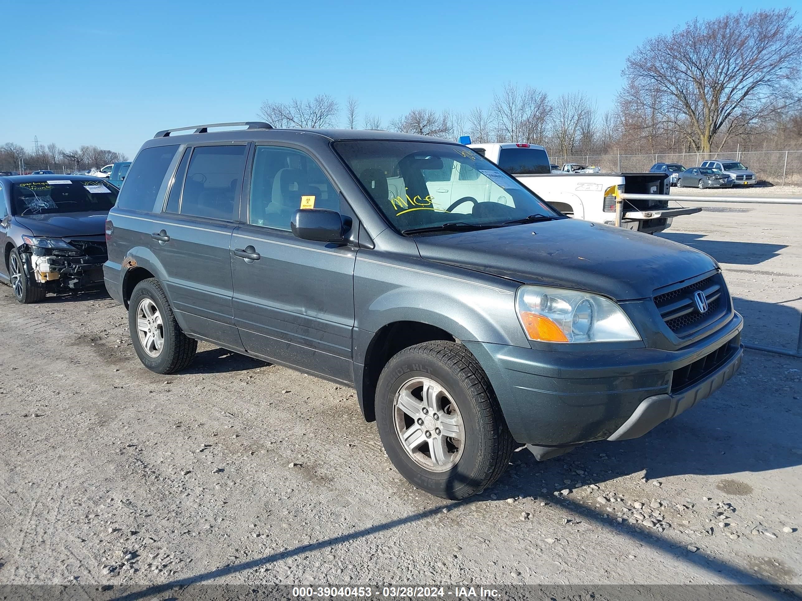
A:
{"type": "Polygon", "coordinates": [[[292,148],[257,146],[248,223],[289,230],[299,208],[339,211],[340,197],[310,155],[292,148]]]}

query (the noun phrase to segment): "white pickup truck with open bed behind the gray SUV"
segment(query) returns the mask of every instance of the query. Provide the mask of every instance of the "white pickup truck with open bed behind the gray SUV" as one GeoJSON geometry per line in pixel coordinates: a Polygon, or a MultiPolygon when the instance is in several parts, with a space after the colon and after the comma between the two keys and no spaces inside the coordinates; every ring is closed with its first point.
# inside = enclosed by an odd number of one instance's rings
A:
{"type": "MultiPolygon", "coordinates": [[[[653,194],[654,200],[625,200],[622,227],[654,234],[674,217],[698,213],[700,208],[669,208],[666,173],[552,173],[549,155],[535,144],[468,144],[518,179],[565,215],[599,224],[615,224],[615,203],[623,192],[653,194]]],[[[460,174],[451,178],[459,184],[460,174]]]]}

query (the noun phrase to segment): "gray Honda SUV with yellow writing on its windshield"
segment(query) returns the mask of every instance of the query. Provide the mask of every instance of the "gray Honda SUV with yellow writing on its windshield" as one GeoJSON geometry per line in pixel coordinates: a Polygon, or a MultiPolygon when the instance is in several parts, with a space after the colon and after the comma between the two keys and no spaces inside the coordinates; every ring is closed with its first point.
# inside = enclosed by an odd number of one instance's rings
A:
{"type": "Polygon", "coordinates": [[[445,140],[236,125],[160,131],[108,216],[106,286],[156,373],[209,341],[354,386],[401,474],[464,498],[516,444],[642,436],[739,368],[703,252],[566,218],[445,140]]]}

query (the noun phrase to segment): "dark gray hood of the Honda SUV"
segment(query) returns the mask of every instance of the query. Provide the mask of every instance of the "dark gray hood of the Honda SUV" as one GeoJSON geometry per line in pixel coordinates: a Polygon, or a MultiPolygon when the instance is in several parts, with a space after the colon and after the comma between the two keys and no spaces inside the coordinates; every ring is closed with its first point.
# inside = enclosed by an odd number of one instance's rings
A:
{"type": "Polygon", "coordinates": [[[526,284],[632,300],[718,267],[684,244],[624,228],[564,219],[416,236],[420,255],[526,284]]]}

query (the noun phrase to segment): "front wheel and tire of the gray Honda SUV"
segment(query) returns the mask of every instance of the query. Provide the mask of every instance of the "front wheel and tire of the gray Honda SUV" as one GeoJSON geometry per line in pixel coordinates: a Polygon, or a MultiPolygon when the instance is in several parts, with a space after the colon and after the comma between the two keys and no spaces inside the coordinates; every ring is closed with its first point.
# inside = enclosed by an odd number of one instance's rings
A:
{"type": "Polygon", "coordinates": [[[424,342],[387,361],[376,387],[376,422],[399,473],[438,497],[480,493],[500,478],[512,456],[514,441],[484,369],[454,342],[424,342]],[[432,392],[429,403],[423,402],[424,389],[432,392]],[[456,436],[444,434],[448,430],[456,436]],[[418,446],[407,450],[403,435],[414,436],[418,446]]]}

